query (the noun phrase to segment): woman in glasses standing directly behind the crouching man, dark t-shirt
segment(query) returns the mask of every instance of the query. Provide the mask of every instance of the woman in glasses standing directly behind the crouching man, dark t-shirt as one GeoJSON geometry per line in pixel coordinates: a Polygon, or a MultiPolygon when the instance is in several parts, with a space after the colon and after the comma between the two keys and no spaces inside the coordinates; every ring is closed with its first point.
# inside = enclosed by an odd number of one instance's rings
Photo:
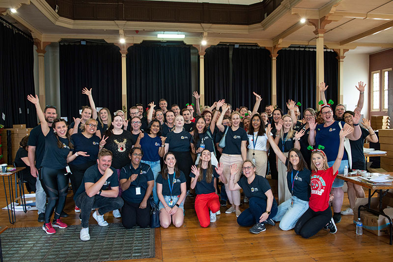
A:
{"type": "MultiPolygon", "coordinates": [[[[97,132],[97,125],[97,120],[93,118],[87,119],[86,123],[82,126],[83,132],[71,136],[74,142],[74,150],[84,151],[87,154],[86,156],[77,156],[74,161],[69,163],[72,173],[72,175],[70,175],[70,180],[74,195],[82,183],[84,172],[97,162],[97,155],[101,143],[101,139],[95,135],[95,132],[97,132]]],[[[75,212],[81,212],[76,205],[75,212]]]]}

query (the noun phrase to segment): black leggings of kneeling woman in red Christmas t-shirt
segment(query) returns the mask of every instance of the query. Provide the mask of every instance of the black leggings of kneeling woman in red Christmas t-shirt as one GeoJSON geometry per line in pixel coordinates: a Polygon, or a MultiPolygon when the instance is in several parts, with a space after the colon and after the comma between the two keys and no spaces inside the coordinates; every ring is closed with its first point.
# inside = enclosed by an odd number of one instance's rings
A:
{"type": "Polygon", "coordinates": [[[332,219],[330,206],[323,211],[314,211],[310,207],[299,218],[295,226],[295,233],[304,238],[309,238],[323,229],[332,219]]]}

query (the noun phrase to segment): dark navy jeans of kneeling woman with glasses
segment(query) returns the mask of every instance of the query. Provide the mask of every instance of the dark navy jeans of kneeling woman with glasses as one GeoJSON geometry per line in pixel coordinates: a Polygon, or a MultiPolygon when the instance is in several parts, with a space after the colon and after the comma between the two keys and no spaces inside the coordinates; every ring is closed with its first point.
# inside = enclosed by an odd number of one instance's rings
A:
{"type": "MultiPolygon", "coordinates": [[[[249,198],[249,208],[244,210],[237,218],[237,224],[243,227],[251,227],[259,223],[260,216],[266,212],[266,200],[258,197],[249,198]]],[[[277,214],[277,202],[273,201],[269,218],[277,214]]]]}

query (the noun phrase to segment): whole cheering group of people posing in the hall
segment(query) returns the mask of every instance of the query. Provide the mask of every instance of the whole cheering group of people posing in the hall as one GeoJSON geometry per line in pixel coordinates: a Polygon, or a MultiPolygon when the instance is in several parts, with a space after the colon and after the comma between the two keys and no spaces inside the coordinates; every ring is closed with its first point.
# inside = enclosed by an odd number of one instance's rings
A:
{"type": "Polygon", "coordinates": [[[197,92],[196,112],[189,104],[168,109],[161,99],[159,108],[152,102],[147,112],[141,104],[131,107],[127,119],[121,110],[97,112],[92,90],[84,88],[90,106],[69,126],[57,118],[56,107],[42,111],[38,96],[28,95],[40,125],[22,140],[18,153],[19,165],[36,177],[38,221],[48,234],[67,227],[60,218],[67,216],[70,180],[83,241],[90,239],[92,209],[100,226],[108,225],[103,215],[112,211],[125,228],[149,227],[151,195],[163,228],[181,227],[185,199],[196,195],[195,212],[204,228],[228,201],[225,213],[235,213],[251,233],[275,222],[306,238],[323,228],[336,233],[341,214],[353,214],[356,197],[364,197],[361,187],[348,183],[350,208],[341,211],[343,180],[337,174],[345,168],[365,170],[364,141],[378,139],[367,119],[359,125],[365,85],[357,86],[360,98],[353,112],[341,104],[334,110],[333,101],[325,99],[327,88],[319,85],[320,110],[305,109],[302,120],[301,103],[292,100],[286,109],[267,105],[258,113],[262,98],[256,93],[249,111],[232,110],[225,100],[200,107],[197,92]],[[278,180],[278,201],[265,178],[269,174],[278,180]],[[249,203],[243,212],[240,189],[249,203]]]}

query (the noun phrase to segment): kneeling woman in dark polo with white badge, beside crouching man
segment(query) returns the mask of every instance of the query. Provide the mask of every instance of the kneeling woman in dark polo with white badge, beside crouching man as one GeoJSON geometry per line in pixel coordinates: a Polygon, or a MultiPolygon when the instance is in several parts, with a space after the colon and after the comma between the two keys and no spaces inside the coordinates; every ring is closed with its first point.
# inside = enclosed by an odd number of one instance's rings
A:
{"type": "Polygon", "coordinates": [[[131,164],[120,171],[120,187],[124,205],[121,208],[123,226],[147,228],[150,225],[149,197],[154,186],[154,176],[149,165],[141,163],[142,149],[130,150],[131,164]]]}

